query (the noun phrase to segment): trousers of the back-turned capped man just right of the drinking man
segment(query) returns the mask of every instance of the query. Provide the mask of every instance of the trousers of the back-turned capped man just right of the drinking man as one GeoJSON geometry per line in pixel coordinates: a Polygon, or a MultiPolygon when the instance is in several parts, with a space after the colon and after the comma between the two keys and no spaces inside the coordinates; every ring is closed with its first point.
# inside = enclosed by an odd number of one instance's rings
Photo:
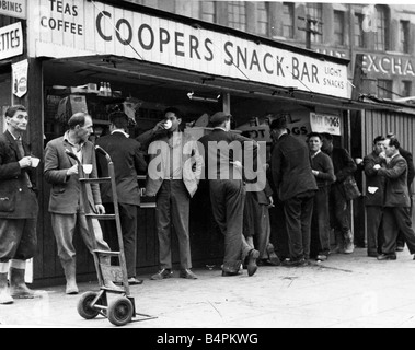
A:
{"type": "Polygon", "coordinates": [[[209,180],[212,214],[224,235],[223,271],[238,272],[242,256],[243,208],[245,189],[242,180],[209,180]]]}

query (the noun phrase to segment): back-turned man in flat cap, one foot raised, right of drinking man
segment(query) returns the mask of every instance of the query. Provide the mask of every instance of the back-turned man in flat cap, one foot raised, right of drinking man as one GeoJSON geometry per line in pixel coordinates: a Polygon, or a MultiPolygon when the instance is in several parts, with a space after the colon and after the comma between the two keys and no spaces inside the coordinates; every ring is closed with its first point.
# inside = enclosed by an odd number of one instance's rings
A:
{"type": "Polygon", "coordinates": [[[205,178],[209,182],[215,221],[224,235],[222,276],[240,275],[241,262],[247,258],[247,273],[256,272],[260,253],[243,238],[243,208],[245,188],[242,177],[242,154],[256,164],[257,144],[254,140],[230,131],[231,115],[218,112],[210,117],[214,130],[199,139],[205,160],[205,178]],[[252,154],[252,155],[251,155],[252,154]],[[238,159],[238,155],[241,158],[238,159]]]}

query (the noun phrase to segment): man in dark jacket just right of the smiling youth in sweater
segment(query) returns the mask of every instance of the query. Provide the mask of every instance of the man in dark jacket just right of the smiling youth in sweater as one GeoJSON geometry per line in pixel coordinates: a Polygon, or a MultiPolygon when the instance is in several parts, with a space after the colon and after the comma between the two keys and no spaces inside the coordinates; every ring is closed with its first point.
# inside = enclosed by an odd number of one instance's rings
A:
{"type": "Polygon", "coordinates": [[[327,153],[334,166],[335,182],[330,191],[331,222],[336,238],[336,253],[351,254],[355,250],[353,231],[349,223],[348,200],[345,197],[343,183],[347,176],[351,176],[357,166],[345,149],[333,147],[333,137],[322,133],[322,151],[327,153]]]}

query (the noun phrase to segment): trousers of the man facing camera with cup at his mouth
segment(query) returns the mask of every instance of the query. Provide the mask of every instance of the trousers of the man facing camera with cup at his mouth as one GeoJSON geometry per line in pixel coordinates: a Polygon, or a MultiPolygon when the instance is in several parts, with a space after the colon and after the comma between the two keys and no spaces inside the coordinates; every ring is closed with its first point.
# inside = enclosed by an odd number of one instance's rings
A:
{"type": "Polygon", "coordinates": [[[181,268],[192,268],[188,230],[189,206],[191,196],[182,179],[163,180],[157,194],[155,209],[160,267],[162,269],[172,269],[172,223],[178,238],[181,268]]]}

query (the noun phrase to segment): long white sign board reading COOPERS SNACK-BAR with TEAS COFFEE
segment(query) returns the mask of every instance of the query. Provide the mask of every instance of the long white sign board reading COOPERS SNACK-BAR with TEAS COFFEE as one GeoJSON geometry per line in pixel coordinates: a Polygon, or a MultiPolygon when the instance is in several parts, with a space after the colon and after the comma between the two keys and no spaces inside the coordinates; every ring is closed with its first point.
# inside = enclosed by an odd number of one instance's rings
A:
{"type": "Polygon", "coordinates": [[[347,66],[96,1],[31,0],[30,56],[116,55],[348,97],[347,66]]]}

